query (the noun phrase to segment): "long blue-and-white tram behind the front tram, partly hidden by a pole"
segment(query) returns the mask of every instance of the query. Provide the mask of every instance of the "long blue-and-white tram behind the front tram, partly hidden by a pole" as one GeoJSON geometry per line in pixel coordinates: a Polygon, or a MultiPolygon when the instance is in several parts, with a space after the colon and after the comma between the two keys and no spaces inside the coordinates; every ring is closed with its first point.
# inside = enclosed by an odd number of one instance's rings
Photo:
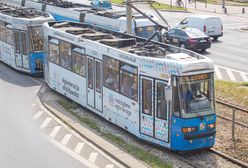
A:
{"type": "MultiPolygon", "coordinates": [[[[106,29],[111,29],[118,32],[127,31],[127,17],[125,10],[102,10],[84,4],[67,2],[63,0],[47,0],[45,3],[42,0],[3,0],[6,3],[22,5],[25,7],[35,8],[40,11],[49,12],[53,15],[56,21],[73,21],[83,22],[97,25],[106,29]]],[[[155,21],[158,19],[155,16],[149,15],[155,21]]],[[[157,29],[157,25],[151,22],[146,17],[137,12],[133,12],[132,16],[132,33],[143,38],[151,37],[157,29]]],[[[153,38],[160,40],[160,36],[153,38]]]]}

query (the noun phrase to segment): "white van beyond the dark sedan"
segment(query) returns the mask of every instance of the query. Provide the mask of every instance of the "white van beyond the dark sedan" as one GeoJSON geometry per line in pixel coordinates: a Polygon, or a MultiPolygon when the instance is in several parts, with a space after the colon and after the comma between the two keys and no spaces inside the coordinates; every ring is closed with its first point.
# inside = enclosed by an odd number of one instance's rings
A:
{"type": "Polygon", "coordinates": [[[223,36],[223,25],[221,19],[217,16],[196,15],[185,18],[177,27],[192,27],[198,28],[206,35],[217,40],[223,36]]]}

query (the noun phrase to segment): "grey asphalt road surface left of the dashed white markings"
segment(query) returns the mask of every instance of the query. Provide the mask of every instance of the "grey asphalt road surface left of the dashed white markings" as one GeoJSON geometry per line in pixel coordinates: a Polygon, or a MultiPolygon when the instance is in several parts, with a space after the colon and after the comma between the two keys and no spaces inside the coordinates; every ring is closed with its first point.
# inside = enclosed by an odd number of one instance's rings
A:
{"type": "Polygon", "coordinates": [[[0,63],[0,167],[83,168],[56,147],[33,120],[40,85],[0,63]]]}

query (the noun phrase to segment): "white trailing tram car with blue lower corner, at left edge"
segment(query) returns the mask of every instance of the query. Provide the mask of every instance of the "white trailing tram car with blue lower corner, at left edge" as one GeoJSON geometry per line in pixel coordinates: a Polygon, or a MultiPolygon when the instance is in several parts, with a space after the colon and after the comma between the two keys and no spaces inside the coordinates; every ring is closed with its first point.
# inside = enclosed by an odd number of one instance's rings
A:
{"type": "Polygon", "coordinates": [[[47,13],[0,3],[0,60],[32,75],[42,74],[42,24],[54,21],[47,13]]]}

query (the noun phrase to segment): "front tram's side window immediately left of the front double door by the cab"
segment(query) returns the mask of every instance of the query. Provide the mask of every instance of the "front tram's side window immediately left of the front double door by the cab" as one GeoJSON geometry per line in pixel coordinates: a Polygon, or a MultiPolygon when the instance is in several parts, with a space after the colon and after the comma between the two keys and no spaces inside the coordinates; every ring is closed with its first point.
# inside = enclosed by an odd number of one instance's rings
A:
{"type": "Polygon", "coordinates": [[[121,63],[120,91],[123,95],[137,101],[137,68],[126,63],[121,63]]]}

